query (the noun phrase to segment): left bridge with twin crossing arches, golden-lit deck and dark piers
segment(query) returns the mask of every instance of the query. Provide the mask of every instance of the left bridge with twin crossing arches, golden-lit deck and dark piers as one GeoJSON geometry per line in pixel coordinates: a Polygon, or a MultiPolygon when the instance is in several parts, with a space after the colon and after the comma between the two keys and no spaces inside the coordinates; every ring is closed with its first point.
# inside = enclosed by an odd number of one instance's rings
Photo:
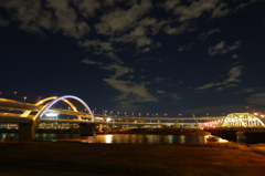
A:
{"type": "Polygon", "coordinates": [[[2,110],[12,111],[9,113],[0,113],[0,122],[17,123],[19,127],[20,139],[33,139],[38,125],[43,122],[78,123],[81,134],[83,135],[93,135],[96,125],[94,114],[91,111],[89,106],[83,100],[73,95],[64,95],[60,97],[57,96],[46,97],[44,100],[39,101],[35,104],[0,99],[0,107],[2,110]],[[72,102],[70,102],[70,100],[75,100],[80,102],[85,107],[86,111],[85,112],[77,111],[76,106],[72,102]],[[54,108],[53,105],[60,101],[66,103],[72,110],[54,108]],[[23,113],[18,114],[18,112],[21,111],[23,113]],[[75,120],[45,118],[44,115],[49,112],[56,112],[59,114],[65,115],[74,115],[77,118],[75,120]]]}

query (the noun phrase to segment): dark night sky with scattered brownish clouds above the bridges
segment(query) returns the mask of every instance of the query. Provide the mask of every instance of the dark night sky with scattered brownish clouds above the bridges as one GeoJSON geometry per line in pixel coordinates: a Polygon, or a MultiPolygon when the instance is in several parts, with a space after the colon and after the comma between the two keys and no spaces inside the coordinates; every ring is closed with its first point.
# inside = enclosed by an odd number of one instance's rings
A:
{"type": "Polygon", "coordinates": [[[97,111],[265,111],[264,0],[1,0],[1,96],[97,111]],[[13,92],[17,91],[17,97],[13,92]]]}

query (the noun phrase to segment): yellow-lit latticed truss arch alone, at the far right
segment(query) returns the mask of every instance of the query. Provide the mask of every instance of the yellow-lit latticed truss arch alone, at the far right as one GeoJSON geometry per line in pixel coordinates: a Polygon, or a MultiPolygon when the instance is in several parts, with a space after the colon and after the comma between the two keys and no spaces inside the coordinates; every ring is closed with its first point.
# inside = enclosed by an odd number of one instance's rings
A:
{"type": "Polygon", "coordinates": [[[224,122],[223,127],[252,127],[265,126],[264,123],[251,113],[231,113],[224,122]]]}

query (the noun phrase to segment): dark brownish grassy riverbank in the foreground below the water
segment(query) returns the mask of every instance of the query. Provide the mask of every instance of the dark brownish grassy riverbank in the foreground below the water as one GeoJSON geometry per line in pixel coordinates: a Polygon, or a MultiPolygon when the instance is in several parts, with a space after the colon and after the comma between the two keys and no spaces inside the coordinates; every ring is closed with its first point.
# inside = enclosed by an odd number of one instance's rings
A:
{"type": "Polygon", "coordinates": [[[0,175],[264,175],[265,144],[0,143],[0,175]]]}

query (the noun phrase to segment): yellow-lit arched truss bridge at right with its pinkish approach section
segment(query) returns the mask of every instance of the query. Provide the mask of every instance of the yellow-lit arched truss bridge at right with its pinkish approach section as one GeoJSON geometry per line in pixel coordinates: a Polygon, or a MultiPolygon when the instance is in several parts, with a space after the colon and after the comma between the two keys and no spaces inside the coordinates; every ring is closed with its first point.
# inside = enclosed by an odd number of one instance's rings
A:
{"type": "Polygon", "coordinates": [[[209,127],[256,127],[265,126],[264,123],[251,113],[231,113],[224,120],[212,121],[203,124],[209,127]]]}

